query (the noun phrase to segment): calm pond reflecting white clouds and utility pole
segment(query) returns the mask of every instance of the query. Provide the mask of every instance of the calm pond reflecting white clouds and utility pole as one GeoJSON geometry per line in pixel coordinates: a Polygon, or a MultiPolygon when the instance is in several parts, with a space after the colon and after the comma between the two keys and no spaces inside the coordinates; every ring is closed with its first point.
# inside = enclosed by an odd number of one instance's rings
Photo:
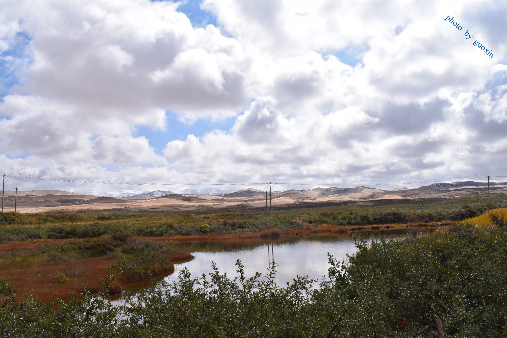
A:
{"type": "MultiPolygon", "coordinates": [[[[269,262],[274,258],[278,275],[277,284],[291,282],[296,276],[308,276],[320,280],[328,274],[330,264],[328,252],[340,260],[347,254],[357,251],[355,238],[375,240],[381,236],[411,236],[417,233],[429,233],[438,228],[409,228],[382,231],[338,234],[311,234],[282,236],[278,239],[243,239],[227,241],[197,241],[176,244],[195,256],[191,261],[175,265],[173,274],[166,276],[168,282],[174,281],[180,270],[187,268],[193,277],[200,277],[213,271],[211,262],[215,262],[221,274],[230,278],[236,276],[236,259],[245,265],[245,275],[250,277],[256,272],[267,273],[269,262]]],[[[133,295],[144,283],[127,286],[124,296],[133,295]]]]}

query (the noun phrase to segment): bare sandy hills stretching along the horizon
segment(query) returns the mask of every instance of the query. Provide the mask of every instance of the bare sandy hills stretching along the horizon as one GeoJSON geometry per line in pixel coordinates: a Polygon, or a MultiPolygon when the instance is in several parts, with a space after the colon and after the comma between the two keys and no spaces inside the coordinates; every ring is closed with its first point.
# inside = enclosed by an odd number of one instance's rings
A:
{"type": "MultiPolygon", "coordinates": [[[[360,201],[381,199],[417,198],[458,198],[487,195],[487,182],[459,181],[452,183],[433,183],[415,189],[404,187],[382,190],[369,186],[328,187],[308,190],[272,191],[273,205],[323,201],[360,201]],[[477,184],[477,188],[476,188],[477,184]]],[[[14,209],[15,192],[6,191],[4,206],[7,211],[14,209]]],[[[507,182],[490,182],[490,193],[507,194],[507,182]]],[[[269,194],[268,194],[269,195],[269,194]]],[[[210,190],[198,193],[195,190],[177,192],[173,189],[156,190],[120,197],[83,195],[57,190],[18,191],[18,211],[77,210],[77,209],[153,209],[185,211],[202,207],[220,208],[242,204],[262,207],[266,205],[266,191],[257,189],[220,192],[210,190]]]]}

